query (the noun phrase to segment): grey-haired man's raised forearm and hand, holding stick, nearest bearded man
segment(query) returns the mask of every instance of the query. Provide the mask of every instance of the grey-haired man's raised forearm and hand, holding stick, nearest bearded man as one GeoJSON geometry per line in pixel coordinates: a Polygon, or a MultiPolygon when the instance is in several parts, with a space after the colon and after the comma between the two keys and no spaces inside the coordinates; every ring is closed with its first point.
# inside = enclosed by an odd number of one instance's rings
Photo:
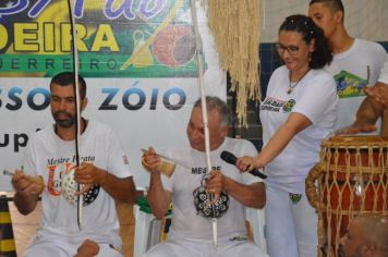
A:
{"type": "Polygon", "coordinates": [[[170,203],[171,192],[166,191],[161,182],[161,174],[158,171],[160,158],[156,156],[154,148],[143,154],[142,163],[150,173],[149,189],[147,194],[148,204],[156,218],[165,217],[170,203]]]}

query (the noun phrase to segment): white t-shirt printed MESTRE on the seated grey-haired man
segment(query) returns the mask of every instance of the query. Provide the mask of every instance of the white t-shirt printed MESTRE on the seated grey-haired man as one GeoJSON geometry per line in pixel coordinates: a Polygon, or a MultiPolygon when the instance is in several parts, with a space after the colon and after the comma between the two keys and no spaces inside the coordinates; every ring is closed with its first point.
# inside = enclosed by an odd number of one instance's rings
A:
{"type": "MultiPolygon", "coordinates": [[[[237,157],[257,156],[256,148],[251,142],[227,137],[218,149],[210,152],[211,166],[243,184],[262,181],[250,173],[240,173],[235,166],[221,160],[220,155],[223,150],[228,150],[237,157]]],[[[178,164],[171,178],[162,175],[165,189],[172,192],[173,219],[170,233],[177,233],[187,238],[211,240],[211,221],[197,215],[193,197],[193,191],[201,185],[203,174],[207,172],[205,152],[186,147],[172,148],[168,150],[167,155],[185,166],[178,164]]],[[[218,219],[219,237],[229,238],[246,234],[244,222],[244,206],[229,195],[229,210],[218,219]]]]}

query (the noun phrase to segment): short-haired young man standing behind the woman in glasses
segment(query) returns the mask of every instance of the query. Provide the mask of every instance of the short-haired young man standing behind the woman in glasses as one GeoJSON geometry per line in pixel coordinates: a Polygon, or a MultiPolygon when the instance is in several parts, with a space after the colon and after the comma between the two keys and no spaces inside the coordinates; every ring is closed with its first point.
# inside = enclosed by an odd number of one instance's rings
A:
{"type": "MultiPolygon", "coordinates": [[[[388,54],[379,44],[348,34],[341,0],[312,0],[308,16],[324,29],[334,53],[326,70],[337,83],[340,101],[336,130],[342,128],[353,124],[360,103],[365,98],[364,89],[376,84],[388,54]]],[[[388,123],[388,119],[385,122],[388,123]]],[[[388,127],[380,133],[388,135],[388,127]]]]}

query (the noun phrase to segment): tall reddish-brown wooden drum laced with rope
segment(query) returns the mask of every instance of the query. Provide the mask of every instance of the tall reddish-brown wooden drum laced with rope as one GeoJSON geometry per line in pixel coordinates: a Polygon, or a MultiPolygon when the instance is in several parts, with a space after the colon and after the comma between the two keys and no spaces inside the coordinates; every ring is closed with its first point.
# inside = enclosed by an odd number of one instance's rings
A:
{"type": "Polygon", "coordinates": [[[318,256],[337,256],[349,219],[388,213],[388,137],[335,136],[306,178],[310,204],[319,217],[318,256]]]}

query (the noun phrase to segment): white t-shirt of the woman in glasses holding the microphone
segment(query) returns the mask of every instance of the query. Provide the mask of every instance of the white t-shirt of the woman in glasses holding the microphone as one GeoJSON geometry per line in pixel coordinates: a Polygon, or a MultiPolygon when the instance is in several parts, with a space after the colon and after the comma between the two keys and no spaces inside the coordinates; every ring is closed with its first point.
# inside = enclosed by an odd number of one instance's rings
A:
{"type": "Polygon", "coordinates": [[[267,97],[260,105],[264,145],[286,123],[291,112],[305,115],[313,124],[298,133],[287,147],[266,166],[266,183],[291,193],[304,192],[304,180],[319,160],[322,139],[334,131],[338,97],[332,76],[311,70],[288,94],[289,70],[278,68],[271,75],[267,97]]]}

